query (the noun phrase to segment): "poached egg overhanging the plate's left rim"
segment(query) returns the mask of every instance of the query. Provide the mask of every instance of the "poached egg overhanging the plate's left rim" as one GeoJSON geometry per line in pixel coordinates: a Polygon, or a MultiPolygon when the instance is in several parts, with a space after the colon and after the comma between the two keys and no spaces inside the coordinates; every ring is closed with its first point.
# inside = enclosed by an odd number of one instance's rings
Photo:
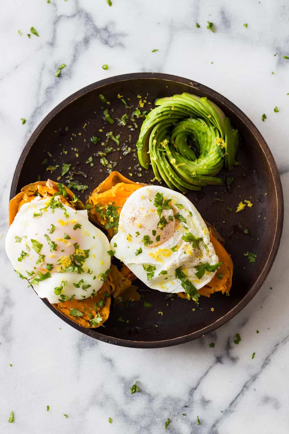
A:
{"type": "MultiPolygon", "coordinates": [[[[60,199],[55,197],[55,200],[60,199]]],[[[88,220],[87,210],[74,210],[65,204],[62,204],[62,208],[52,209],[49,203],[50,199],[36,197],[19,209],[6,236],[7,256],[16,272],[30,282],[35,277],[39,278],[39,272],[46,273],[47,264],[52,264],[53,270],[50,271],[50,277],[38,284],[33,283],[33,288],[39,297],[47,298],[50,303],[58,303],[61,295],[68,298],[74,296],[79,300],[88,298],[101,288],[103,278],[100,274],[105,273],[110,267],[111,257],[107,253],[110,250],[109,241],[104,233],[88,220]],[[39,215],[36,216],[36,214],[39,215]],[[73,229],[75,224],[80,224],[81,228],[73,229]],[[55,230],[50,233],[52,225],[55,226],[55,230]],[[65,239],[65,233],[70,239],[65,239]],[[55,250],[51,251],[45,234],[57,244],[55,250]],[[19,239],[21,239],[20,242],[17,242],[19,239]],[[31,240],[42,244],[40,254],[45,255],[43,263],[36,264],[39,254],[33,249],[31,240]],[[69,260],[70,256],[75,253],[75,243],[78,244],[81,253],[83,250],[89,250],[89,256],[82,265],[84,272],[81,274],[75,271],[72,273],[58,272],[60,266],[57,261],[64,257],[69,260]],[[20,262],[18,258],[21,259],[21,252],[29,256],[23,255],[20,262]],[[73,283],[79,285],[79,288],[73,283]],[[61,286],[61,294],[55,294],[55,288],[61,286]]]]}

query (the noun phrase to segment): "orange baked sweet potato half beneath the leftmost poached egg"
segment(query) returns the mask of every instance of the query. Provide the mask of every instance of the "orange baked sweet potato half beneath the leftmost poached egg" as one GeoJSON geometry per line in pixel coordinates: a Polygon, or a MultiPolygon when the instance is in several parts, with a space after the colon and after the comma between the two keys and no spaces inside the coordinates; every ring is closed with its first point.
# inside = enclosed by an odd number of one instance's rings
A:
{"type": "MultiPolygon", "coordinates": [[[[73,202],[72,200],[74,194],[67,187],[65,187],[65,190],[67,192],[67,196],[63,197],[62,195],[60,195],[59,197],[61,201],[71,208],[83,210],[84,209],[83,203],[79,199],[78,201],[73,202]]],[[[17,212],[22,207],[22,205],[32,201],[36,197],[36,194],[39,194],[42,198],[46,198],[46,197],[52,197],[53,194],[58,193],[58,191],[59,191],[58,183],[55,181],[51,181],[50,179],[48,181],[34,182],[32,184],[23,187],[20,193],[16,194],[16,196],[13,197],[13,199],[11,199],[10,201],[9,225],[13,222],[17,212]]],[[[123,278],[123,275],[121,274],[120,276],[118,276],[117,273],[114,273],[114,278],[118,283],[123,278]]],[[[63,303],[59,302],[59,303],[52,304],[52,306],[55,307],[55,309],[57,309],[63,315],[67,316],[69,319],[76,322],[78,325],[81,325],[82,327],[85,328],[96,328],[102,325],[109,316],[110,297],[105,297],[104,293],[107,292],[108,294],[110,294],[113,289],[114,289],[114,284],[112,282],[111,276],[108,274],[107,281],[104,282],[101,289],[93,297],[84,299],[84,301],[73,300],[73,301],[65,301],[63,303]],[[94,303],[99,303],[101,299],[103,299],[105,302],[104,306],[99,307],[97,305],[94,305],[94,303]],[[69,315],[71,308],[78,309],[81,313],[83,313],[83,316],[69,315]],[[91,325],[89,319],[91,317],[94,318],[97,312],[99,312],[102,321],[97,325],[91,325]],[[88,314],[91,314],[91,317],[88,314]]]]}

